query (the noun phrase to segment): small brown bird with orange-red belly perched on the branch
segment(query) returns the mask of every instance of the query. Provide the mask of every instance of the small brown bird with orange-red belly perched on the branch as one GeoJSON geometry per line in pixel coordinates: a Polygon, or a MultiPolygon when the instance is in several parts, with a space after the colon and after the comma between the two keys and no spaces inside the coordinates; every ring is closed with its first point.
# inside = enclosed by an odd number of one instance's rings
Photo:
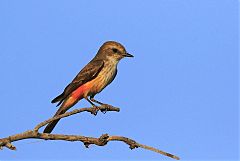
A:
{"type": "MultiPolygon", "coordinates": [[[[51,101],[60,106],[54,117],[64,114],[82,99],[87,100],[93,107],[97,107],[95,103],[106,105],[94,99],[94,96],[115,79],[117,65],[125,57],[134,56],[129,54],[121,43],[116,41],[103,43],[95,57],[66,86],[64,91],[51,101]]],[[[50,122],[43,132],[51,133],[59,120],[50,122]]]]}

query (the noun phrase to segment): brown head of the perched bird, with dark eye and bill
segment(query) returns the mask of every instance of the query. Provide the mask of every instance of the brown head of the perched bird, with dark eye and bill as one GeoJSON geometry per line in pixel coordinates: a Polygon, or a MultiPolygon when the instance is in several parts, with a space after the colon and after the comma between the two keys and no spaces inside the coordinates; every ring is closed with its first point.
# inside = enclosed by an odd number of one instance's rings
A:
{"type": "Polygon", "coordinates": [[[105,42],[97,53],[98,57],[114,59],[116,61],[121,60],[124,57],[133,57],[133,55],[127,53],[124,46],[115,41],[105,42]]]}

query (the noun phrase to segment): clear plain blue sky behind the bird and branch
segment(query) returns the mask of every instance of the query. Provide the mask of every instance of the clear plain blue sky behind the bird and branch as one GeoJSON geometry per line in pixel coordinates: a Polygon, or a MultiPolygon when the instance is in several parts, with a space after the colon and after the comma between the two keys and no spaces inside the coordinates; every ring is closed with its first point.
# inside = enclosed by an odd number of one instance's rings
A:
{"type": "MultiPolygon", "coordinates": [[[[233,0],[0,1],[0,137],[51,117],[51,99],[115,40],[135,57],[96,98],[121,112],[75,115],[55,133],[123,135],[183,160],[237,160],[237,9],[233,0]]],[[[0,160],[167,160],[118,142],[14,145],[0,160]]]]}

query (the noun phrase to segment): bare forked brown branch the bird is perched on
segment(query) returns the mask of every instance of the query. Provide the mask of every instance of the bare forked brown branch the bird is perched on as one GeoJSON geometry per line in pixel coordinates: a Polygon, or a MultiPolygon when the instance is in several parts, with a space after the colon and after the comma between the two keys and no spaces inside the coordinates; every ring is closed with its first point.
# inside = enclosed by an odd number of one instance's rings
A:
{"type": "Polygon", "coordinates": [[[91,114],[96,115],[99,110],[102,112],[106,112],[106,111],[119,112],[120,111],[120,109],[117,107],[113,107],[110,105],[102,105],[102,106],[99,106],[98,108],[95,108],[95,107],[80,108],[80,109],[73,110],[71,112],[66,112],[62,115],[55,116],[53,118],[50,118],[46,121],[39,123],[33,130],[28,130],[23,133],[19,133],[16,135],[12,135],[12,136],[0,139],[0,149],[3,149],[3,147],[6,147],[10,150],[16,150],[16,147],[14,145],[12,145],[12,142],[24,140],[24,139],[80,141],[85,145],[86,148],[88,148],[89,145],[91,145],[91,144],[94,144],[97,146],[105,146],[105,145],[107,145],[107,143],[109,141],[121,141],[121,142],[128,144],[130,149],[135,149],[135,148],[140,147],[143,149],[151,150],[156,153],[171,157],[173,159],[177,159],[177,160],[180,159],[179,157],[177,157],[173,154],[161,151],[159,149],[156,149],[156,148],[153,148],[153,147],[150,147],[147,145],[137,143],[136,141],[134,141],[130,138],[127,138],[127,137],[123,137],[123,136],[109,136],[108,134],[103,134],[99,138],[94,138],[94,137],[86,137],[86,136],[80,136],[80,135],[48,134],[48,133],[39,133],[38,132],[41,127],[47,125],[48,123],[50,123],[54,120],[59,119],[59,118],[68,117],[68,116],[71,116],[71,115],[74,115],[77,113],[81,113],[84,111],[90,112],[91,114]]]}

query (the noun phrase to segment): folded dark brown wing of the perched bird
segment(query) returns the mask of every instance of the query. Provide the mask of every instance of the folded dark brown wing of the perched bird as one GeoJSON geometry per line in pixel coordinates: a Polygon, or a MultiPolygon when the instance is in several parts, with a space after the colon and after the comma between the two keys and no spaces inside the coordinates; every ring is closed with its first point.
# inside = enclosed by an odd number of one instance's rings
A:
{"type": "MultiPolygon", "coordinates": [[[[59,102],[58,105],[62,103],[62,101],[69,96],[74,90],[76,90],[81,85],[85,84],[88,81],[93,80],[97,77],[99,72],[102,70],[104,66],[103,60],[92,60],[90,61],[73,79],[73,81],[64,89],[63,93],[57,96],[52,100],[52,103],[59,102]]],[[[57,105],[57,106],[58,106],[57,105]]]]}

